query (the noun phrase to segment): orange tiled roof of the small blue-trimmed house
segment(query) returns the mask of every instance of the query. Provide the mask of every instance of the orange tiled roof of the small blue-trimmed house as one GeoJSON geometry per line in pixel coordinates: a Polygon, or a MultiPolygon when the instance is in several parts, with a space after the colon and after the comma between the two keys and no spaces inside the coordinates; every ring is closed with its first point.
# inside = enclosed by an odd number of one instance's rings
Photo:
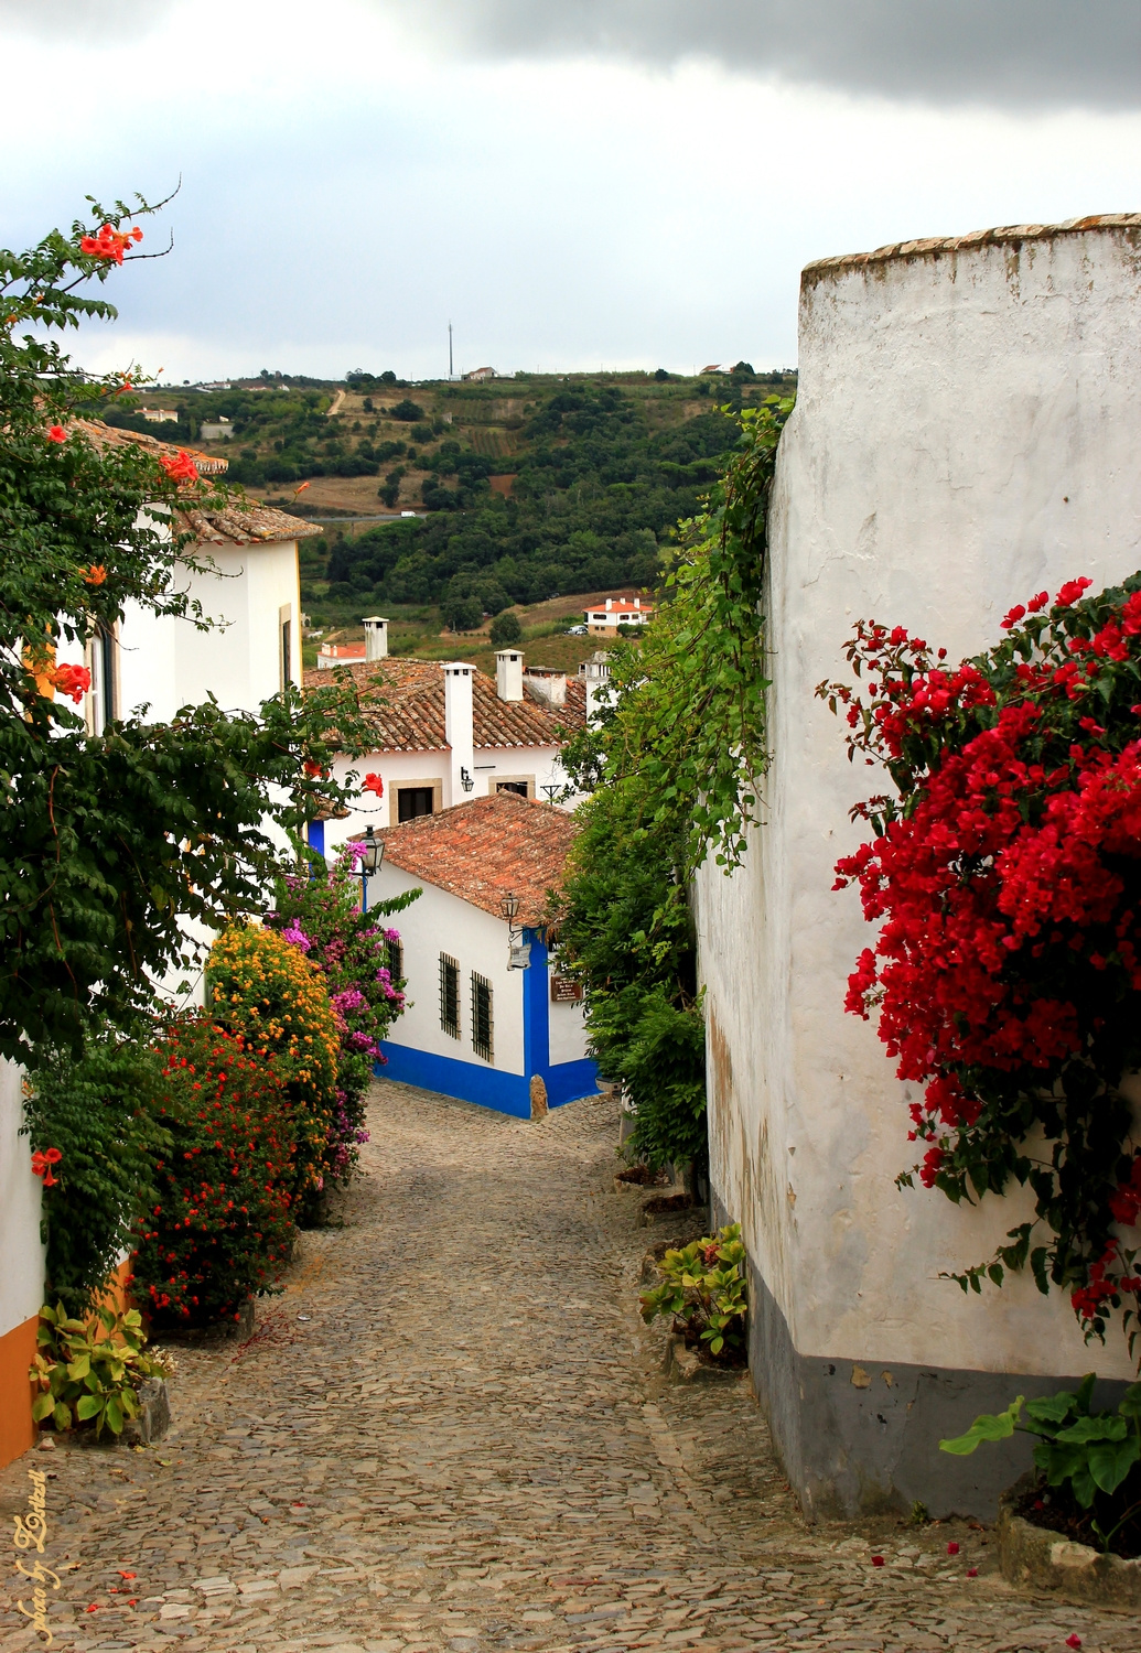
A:
{"type": "Polygon", "coordinates": [[[456,803],[385,826],[385,865],[402,868],[485,912],[501,917],[506,894],[519,898],[516,924],[537,927],[547,916],[547,891],[557,889],[579,830],[566,810],[521,798],[518,792],[456,803]]]}

